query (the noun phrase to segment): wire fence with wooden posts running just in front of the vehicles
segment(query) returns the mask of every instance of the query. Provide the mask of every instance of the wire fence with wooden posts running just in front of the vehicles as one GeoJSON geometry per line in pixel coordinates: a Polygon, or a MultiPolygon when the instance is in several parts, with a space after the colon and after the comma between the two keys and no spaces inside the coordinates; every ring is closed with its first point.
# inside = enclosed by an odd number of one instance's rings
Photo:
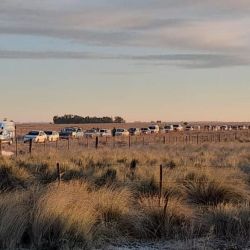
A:
{"type": "Polygon", "coordinates": [[[19,154],[32,154],[33,151],[46,153],[49,150],[84,150],[84,149],[115,149],[115,148],[135,148],[150,145],[201,145],[212,143],[232,143],[250,142],[250,130],[246,131],[223,131],[223,132],[175,132],[168,134],[152,134],[138,136],[121,137],[79,137],[68,138],[67,140],[57,140],[55,142],[45,141],[34,143],[32,140],[26,144],[23,137],[18,135],[12,145],[3,144],[0,141],[0,154],[3,150],[19,154]]]}

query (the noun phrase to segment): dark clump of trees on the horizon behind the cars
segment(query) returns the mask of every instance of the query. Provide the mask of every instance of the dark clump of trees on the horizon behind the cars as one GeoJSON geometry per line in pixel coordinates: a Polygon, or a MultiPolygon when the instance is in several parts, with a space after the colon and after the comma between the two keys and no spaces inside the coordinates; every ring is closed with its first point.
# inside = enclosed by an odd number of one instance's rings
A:
{"type": "Polygon", "coordinates": [[[54,124],[88,124],[88,123],[125,123],[125,120],[120,117],[82,117],[78,115],[54,116],[54,124]]]}

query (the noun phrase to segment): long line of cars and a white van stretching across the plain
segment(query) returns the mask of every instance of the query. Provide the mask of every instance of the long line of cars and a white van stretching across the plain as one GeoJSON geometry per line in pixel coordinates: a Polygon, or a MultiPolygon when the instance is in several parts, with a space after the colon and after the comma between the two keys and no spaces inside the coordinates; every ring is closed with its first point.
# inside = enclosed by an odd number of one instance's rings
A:
{"type": "MultiPolygon", "coordinates": [[[[143,128],[114,128],[114,129],[98,129],[93,128],[83,131],[79,127],[67,127],[62,129],[60,132],[57,131],[30,131],[24,136],[24,142],[56,142],[59,139],[69,139],[69,138],[94,138],[100,137],[111,137],[111,136],[136,136],[136,135],[150,135],[159,133],[170,133],[170,132],[181,132],[181,131],[232,131],[232,130],[247,130],[250,126],[247,125],[186,125],[181,124],[167,124],[163,127],[159,125],[152,124],[149,127],[143,128]]],[[[15,123],[8,121],[0,121],[0,141],[7,142],[9,144],[13,143],[15,139],[15,123]]]]}

